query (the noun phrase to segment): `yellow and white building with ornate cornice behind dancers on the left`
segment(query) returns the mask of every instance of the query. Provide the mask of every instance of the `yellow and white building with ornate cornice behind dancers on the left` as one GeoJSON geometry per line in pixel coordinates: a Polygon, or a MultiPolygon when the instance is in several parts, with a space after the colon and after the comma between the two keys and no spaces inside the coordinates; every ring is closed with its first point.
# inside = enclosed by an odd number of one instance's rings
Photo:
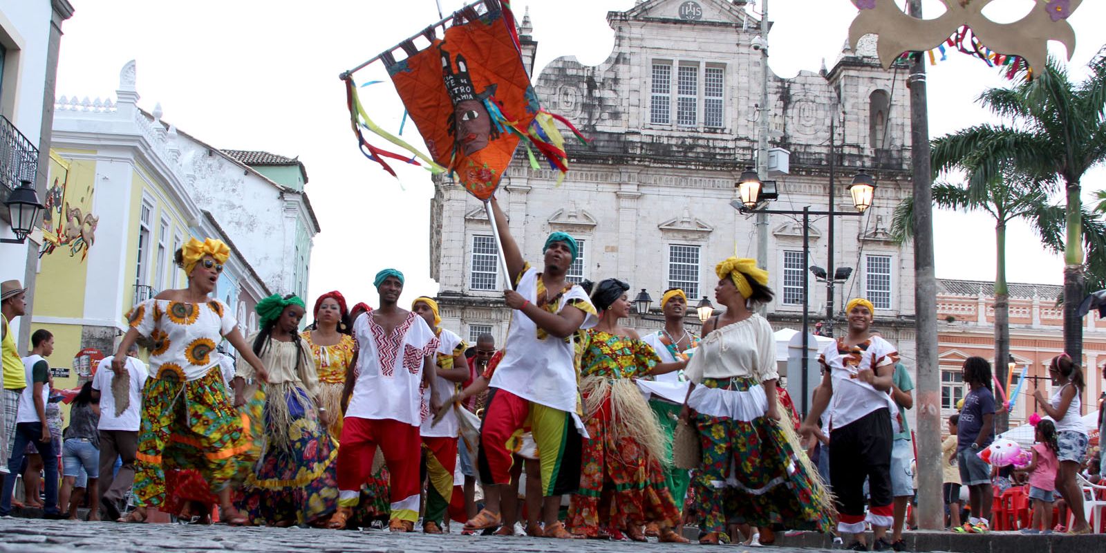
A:
{"type": "Polygon", "coordinates": [[[32,323],[54,333],[52,365],[74,358],[60,387],[87,369],[81,352],[111,353],[134,304],[185,285],[173,255],[191,237],[230,247],[215,295],[244,333],[261,298],[306,289],[319,226],[302,165],[281,184],[177,131],[138,108],[135,75],[132,61],[114,100],[56,101],[32,323]]]}

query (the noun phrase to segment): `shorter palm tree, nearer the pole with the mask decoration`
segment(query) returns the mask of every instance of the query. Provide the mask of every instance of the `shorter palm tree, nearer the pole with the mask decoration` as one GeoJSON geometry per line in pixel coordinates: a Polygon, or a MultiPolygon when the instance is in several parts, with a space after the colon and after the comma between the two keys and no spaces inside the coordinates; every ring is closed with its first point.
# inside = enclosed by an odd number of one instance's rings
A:
{"type": "MultiPolygon", "coordinates": [[[[969,180],[974,171],[971,167],[958,167],[968,171],[969,180]]],[[[1006,286],[1006,225],[1015,219],[1026,219],[1035,230],[1045,237],[1058,234],[1056,215],[1062,208],[1048,205],[1048,192],[1055,182],[1036,181],[1013,169],[1000,173],[982,189],[967,188],[948,182],[933,182],[933,205],[962,211],[985,211],[994,219],[995,263],[994,263],[994,367],[995,377],[1005,380],[1006,358],[1010,355],[1010,290],[1006,286]]],[[[914,197],[907,197],[896,208],[891,219],[890,233],[895,241],[902,243],[914,236],[914,197]]],[[[1005,431],[1008,414],[1002,410],[995,425],[998,431],[1005,431]]]]}

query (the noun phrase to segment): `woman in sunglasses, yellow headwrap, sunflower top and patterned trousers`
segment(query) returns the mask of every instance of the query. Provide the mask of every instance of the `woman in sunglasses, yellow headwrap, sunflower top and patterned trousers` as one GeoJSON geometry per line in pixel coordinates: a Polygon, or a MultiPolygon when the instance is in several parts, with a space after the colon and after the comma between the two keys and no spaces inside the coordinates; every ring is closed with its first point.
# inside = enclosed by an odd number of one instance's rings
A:
{"type": "Polygon", "coordinates": [[[249,522],[231,502],[231,482],[241,477],[257,451],[248,418],[231,404],[216,345],[223,338],[230,342],[259,380],[264,382],[267,372],[238,331],[230,309],[208,295],[229,258],[230,248],[220,240],[190,239],[174,255],[185,270],[188,288],[166,290],[128,314],[131,327],[112,362],[116,377],[128,374],[124,364],[132,344],[146,338],[152,349],[135,460],[134,494],[139,507],[121,520],[145,522],[147,508],[163,505],[166,456],[166,465],[173,468],[199,471],[219,498],[225,522],[249,522]],[[180,448],[191,455],[171,455],[180,448]]]}

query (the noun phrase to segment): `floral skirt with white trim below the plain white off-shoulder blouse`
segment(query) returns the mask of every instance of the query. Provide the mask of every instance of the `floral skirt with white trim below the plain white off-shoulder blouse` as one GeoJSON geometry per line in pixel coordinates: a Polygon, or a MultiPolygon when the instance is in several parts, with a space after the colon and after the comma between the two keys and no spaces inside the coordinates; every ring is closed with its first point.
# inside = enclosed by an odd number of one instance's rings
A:
{"type": "Polygon", "coordinates": [[[820,507],[828,503],[827,492],[806,473],[780,422],[764,416],[760,383],[703,378],[688,406],[702,440],[702,465],[691,483],[702,532],[726,532],[729,523],[832,528],[832,513],[820,507]]]}

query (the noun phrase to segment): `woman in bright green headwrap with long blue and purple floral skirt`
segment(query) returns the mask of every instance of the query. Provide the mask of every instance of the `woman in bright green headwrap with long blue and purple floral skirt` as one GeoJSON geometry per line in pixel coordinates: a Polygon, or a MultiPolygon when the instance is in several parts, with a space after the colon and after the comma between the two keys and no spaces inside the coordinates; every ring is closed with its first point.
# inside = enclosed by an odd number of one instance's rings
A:
{"type": "MultiPolygon", "coordinates": [[[[338,450],[327,430],[331,414],[322,405],[311,348],[298,332],[304,303],[295,294],[273,294],[254,310],[261,330],[249,341],[269,368],[264,449],[239,504],[253,524],[323,525],[337,510],[338,450]]],[[[241,393],[252,376],[249,365],[240,365],[234,390],[241,393]]]]}

